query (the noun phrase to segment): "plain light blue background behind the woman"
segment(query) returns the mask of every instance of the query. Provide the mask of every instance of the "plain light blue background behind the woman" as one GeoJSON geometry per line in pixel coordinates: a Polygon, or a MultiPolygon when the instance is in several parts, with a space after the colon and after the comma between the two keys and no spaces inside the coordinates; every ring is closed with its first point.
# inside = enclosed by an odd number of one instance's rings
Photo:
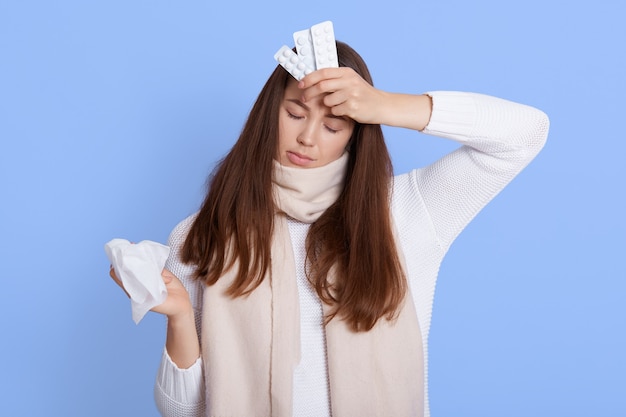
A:
{"type": "MultiPolygon", "coordinates": [[[[1,414],[157,415],[164,320],[132,322],[103,245],[164,242],[274,52],[330,19],[379,88],[551,118],[444,261],[432,414],[626,415],[625,16],[617,0],[1,0],[1,414]]],[[[455,147],[386,133],[397,172],[455,147]]]]}

